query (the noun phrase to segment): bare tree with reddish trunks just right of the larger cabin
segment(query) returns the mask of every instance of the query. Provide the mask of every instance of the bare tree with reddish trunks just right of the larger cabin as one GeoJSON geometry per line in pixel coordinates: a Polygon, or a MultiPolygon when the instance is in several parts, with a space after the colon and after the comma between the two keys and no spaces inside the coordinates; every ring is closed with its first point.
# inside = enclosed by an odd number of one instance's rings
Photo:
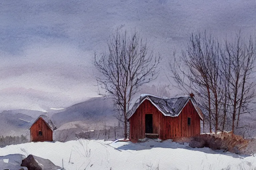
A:
{"type": "Polygon", "coordinates": [[[221,100],[219,56],[220,44],[206,32],[202,37],[198,32],[190,37],[187,49],[182,51],[181,59],[174,53],[174,62],[170,62],[171,77],[180,90],[193,90],[201,98],[201,107],[207,110],[205,115],[212,132],[212,119],[215,131],[219,129],[219,104],[221,100]],[[214,112],[213,112],[214,111],[214,112]]]}

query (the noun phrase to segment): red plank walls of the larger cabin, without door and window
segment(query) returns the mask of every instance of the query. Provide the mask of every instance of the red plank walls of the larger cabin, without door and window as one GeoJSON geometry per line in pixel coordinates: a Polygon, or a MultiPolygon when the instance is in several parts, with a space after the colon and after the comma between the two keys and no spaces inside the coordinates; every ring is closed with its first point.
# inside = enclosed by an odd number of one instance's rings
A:
{"type": "Polygon", "coordinates": [[[130,139],[132,141],[145,138],[145,115],[153,114],[153,133],[160,139],[190,137],[200,134],[200,117],[189,101],[177,117],[164,116],[149,100],[145,100],[129,119],[130,139]],[[187,125],[187,118],[191,125],[187,125]]]}

